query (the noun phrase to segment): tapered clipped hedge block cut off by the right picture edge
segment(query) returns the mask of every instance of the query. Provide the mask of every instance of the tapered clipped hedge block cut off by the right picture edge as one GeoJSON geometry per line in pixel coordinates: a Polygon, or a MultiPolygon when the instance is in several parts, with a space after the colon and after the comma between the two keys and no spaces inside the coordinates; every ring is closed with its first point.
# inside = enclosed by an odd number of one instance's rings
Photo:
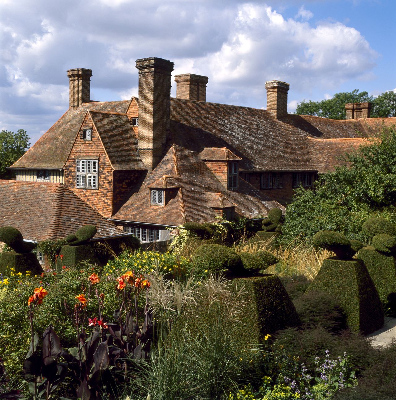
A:
{"type": "Polygon", "coordinates": [[[359,250],[358,258],[364,262],[380,300],[387,304],[388,296],[396,292],[396,259],[390,254],[380,253],[369,246],[359,250]]]}

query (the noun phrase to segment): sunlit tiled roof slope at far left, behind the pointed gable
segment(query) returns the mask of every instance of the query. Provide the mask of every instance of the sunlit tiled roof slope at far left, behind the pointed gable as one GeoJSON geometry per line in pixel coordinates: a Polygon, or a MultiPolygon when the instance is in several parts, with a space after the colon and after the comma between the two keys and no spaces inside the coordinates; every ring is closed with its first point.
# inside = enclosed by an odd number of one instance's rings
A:
{"type": "Polygon", "coordinates": [[[131,100],[83,103],[65,114],[14,164],[12,168],[61,169],[72,150],[87,110],[125,113],[131,100]]]}

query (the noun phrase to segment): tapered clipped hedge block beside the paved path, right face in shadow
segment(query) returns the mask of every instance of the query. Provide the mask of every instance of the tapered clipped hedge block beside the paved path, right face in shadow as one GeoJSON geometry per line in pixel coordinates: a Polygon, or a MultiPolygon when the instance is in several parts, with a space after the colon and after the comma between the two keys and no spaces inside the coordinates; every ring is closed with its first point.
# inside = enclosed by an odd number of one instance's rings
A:
{"type": "Polygon", "coordinates": [[[384,324],[378,292],[361,260],[327,258],[308,287],[307,292],[310,291],[332,296],[344,310],[346,323],[354,332],[369,334],[384,324]]]}

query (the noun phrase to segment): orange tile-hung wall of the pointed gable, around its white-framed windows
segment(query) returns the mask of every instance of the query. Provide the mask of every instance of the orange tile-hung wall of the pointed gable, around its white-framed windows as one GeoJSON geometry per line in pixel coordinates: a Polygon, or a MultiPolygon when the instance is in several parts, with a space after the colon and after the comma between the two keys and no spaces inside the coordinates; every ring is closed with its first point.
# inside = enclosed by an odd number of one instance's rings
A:
{"type": "Polygon", "coordinates": [[[100,214],[110,217],[113,208],[113,169],[89,114],[86,115],[81,130],[88,128],[92,128],[92,140],[82,140],[80,139],[80,132],[78,133],[64,168],[65,186],[90,206],[96,208],[100,214]],[[76,188],[76,160],[84,159],[98,160],[98,189],[76,188]]]}

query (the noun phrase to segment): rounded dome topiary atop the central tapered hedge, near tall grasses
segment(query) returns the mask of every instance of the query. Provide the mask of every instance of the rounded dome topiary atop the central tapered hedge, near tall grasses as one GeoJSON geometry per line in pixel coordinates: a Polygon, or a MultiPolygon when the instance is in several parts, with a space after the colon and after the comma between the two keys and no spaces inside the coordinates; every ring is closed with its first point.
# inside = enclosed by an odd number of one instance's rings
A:
{"type": "Polygon", "coordinates": [[[229,269],[238,272],[242,268],[241,257],[227,246],[221,244],[204,244],[192,255],[194,264],[212,272],[229,269]]]}

